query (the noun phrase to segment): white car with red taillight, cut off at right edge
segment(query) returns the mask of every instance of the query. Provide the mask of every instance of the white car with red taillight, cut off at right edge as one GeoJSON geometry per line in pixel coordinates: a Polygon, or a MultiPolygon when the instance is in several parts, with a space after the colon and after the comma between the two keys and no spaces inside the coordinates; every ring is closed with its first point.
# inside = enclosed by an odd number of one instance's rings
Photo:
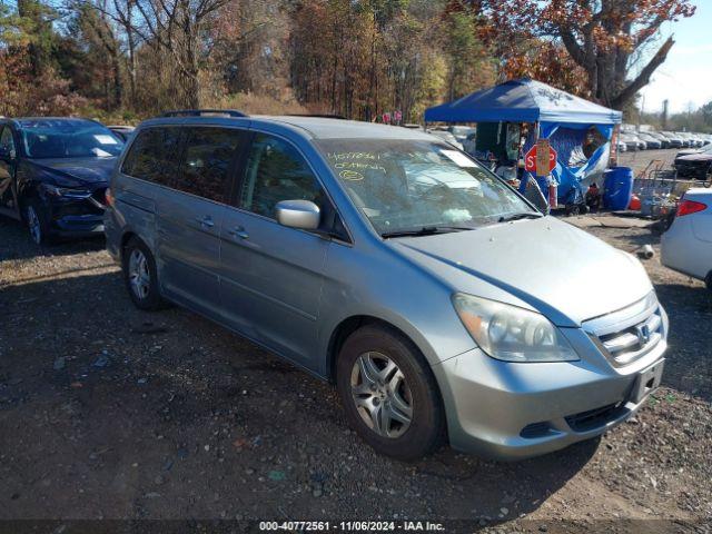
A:
{"type": "Polygon", "coordinates": [[[688,189],[662,237],[662,263],[712,289],[712,190],[688,189]]]}

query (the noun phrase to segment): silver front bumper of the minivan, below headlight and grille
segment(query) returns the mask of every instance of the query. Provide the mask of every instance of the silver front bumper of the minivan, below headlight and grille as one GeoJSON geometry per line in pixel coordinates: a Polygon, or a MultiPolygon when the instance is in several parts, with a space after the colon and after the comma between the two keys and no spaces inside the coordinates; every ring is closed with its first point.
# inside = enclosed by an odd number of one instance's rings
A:
{"type": "Polygon", "coordinates": [[[581,360],[506,363],[475,348],[433,366],[451,445],[494,459],[523,459],[603,434],[646,400],[634,399],[641,372],[661,365],[663,337],[644,356],[615,367],[583,329],[562,329],[581,360]]]}

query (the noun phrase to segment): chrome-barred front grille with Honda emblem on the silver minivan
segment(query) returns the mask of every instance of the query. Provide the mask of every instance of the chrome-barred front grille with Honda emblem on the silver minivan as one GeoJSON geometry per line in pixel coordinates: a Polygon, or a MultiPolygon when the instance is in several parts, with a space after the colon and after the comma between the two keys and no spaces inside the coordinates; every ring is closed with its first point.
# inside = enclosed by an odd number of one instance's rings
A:
{"type": "Polygon", "coordinates": [[[654,293],[627,308],[585,322],[583,328],[617,367],[641,358],[664,336],[662,309],[654,293]]]}

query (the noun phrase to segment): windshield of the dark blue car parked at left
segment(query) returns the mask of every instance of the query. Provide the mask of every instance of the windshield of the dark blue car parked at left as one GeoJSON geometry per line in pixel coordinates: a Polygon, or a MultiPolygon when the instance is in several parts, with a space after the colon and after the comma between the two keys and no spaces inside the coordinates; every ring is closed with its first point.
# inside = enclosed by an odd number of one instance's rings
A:
{"type": "Polygon", "coordinates": [[[109,158],[123,148],[111,130],[90,120],[23,120],[20,131],[28,158],[109,158]]]}

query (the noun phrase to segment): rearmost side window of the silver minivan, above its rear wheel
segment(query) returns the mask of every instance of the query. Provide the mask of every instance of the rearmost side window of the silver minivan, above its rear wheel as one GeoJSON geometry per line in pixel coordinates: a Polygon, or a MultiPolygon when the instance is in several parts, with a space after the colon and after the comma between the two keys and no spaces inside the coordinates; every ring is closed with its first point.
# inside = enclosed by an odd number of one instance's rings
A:
{"type": "Polygon", "coordinates": [[[176,178],[179,150],[179,128],[147,128],[139,132],[131,145],[121,172],[171,187],[176,178]]]}

